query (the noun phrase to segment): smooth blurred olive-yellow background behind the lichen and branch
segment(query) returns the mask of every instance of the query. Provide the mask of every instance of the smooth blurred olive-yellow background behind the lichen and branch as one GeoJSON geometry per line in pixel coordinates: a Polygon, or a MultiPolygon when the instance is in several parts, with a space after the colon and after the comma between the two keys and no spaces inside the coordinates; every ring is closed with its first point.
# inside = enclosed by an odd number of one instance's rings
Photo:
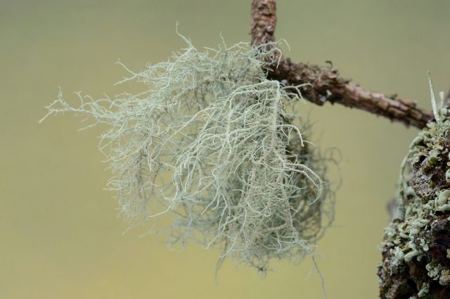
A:
{"type": "MultiPolygon", "coordinates": [[[[0,298],[321,298],[311,260],[271,263],[265,279],[191,245],[122,234],[110,173],[97,150],[100,128],[77,132],[72,115],[37,121],[58,86],[100,97],[126,72],[184,46],[249,41],[250,0],[0,1],[0,298]]],[[[430,109],[427,70],[450,87],[450,2],[278,1],[277,39],[293,61],[331,60],[343,77],[430,109]]],[[[416,128],[344,107],[300,105],[322,148],[342,153],[336,218],[319,242],[328,298],[378,298],[378,244],[399,164],[416,128]]],[[[337,171],[331,173],[338,179],[337,171]]]]}

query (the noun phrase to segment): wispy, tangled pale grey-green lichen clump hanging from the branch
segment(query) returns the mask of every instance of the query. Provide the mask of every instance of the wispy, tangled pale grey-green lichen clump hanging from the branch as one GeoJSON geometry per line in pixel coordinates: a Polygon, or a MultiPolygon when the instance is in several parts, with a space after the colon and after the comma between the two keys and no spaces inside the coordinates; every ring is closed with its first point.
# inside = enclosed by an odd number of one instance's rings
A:
{"type": "MultiPolygon", "coordinates": [[[[325,159],[295,126],[300,98],[266,79],[276,45],[187,47],[123,81],[146,91],[114,99],[60,93],[49,114],[105,124],[108,183],[131,225],[171,212],[173,241],[200,241],[265,271],[271,258],[301,259],[333,220],[325,159]]],[[[122,82],[123,82],[122,81],[122,82]]],[[[298,87],[298,86],[297,86],[298,87]]]]}

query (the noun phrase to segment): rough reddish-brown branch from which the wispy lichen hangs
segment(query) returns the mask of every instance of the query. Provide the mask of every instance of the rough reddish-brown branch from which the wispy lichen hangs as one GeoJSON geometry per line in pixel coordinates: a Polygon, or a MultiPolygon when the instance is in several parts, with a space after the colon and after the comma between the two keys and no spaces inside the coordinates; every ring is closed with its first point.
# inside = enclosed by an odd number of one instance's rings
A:
{"type": "MultiPolygon", "coordinates": [[[[276,0],[252,0],[252,45],[275,41],[275,27],[276,0]]],[[[416,107],[416,102],[398,98],[397,95],[366,91],[358,84],[340,78],[332,66],[295,63],[281,57],[278,65],[268,68],[267,77],[288,86],[307,84],[300,88],[302,97],[316,105],[338,103],[417,128],[425,127],[433,119],[432,112],[416,107]]]]}

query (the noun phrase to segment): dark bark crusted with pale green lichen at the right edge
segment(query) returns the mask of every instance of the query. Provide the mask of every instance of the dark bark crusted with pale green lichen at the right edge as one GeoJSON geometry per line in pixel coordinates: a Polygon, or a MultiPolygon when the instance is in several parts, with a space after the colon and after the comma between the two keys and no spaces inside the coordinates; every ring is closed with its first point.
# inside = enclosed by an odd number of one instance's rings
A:
{"type": "Polygon", "coordinates": [[[436,121],[411,143],[402,165],[398,211],[385,229],[378,269],[382,298],[450,294],[450,111],[443,97],[438,107],[432,95],[436,121]]]}

